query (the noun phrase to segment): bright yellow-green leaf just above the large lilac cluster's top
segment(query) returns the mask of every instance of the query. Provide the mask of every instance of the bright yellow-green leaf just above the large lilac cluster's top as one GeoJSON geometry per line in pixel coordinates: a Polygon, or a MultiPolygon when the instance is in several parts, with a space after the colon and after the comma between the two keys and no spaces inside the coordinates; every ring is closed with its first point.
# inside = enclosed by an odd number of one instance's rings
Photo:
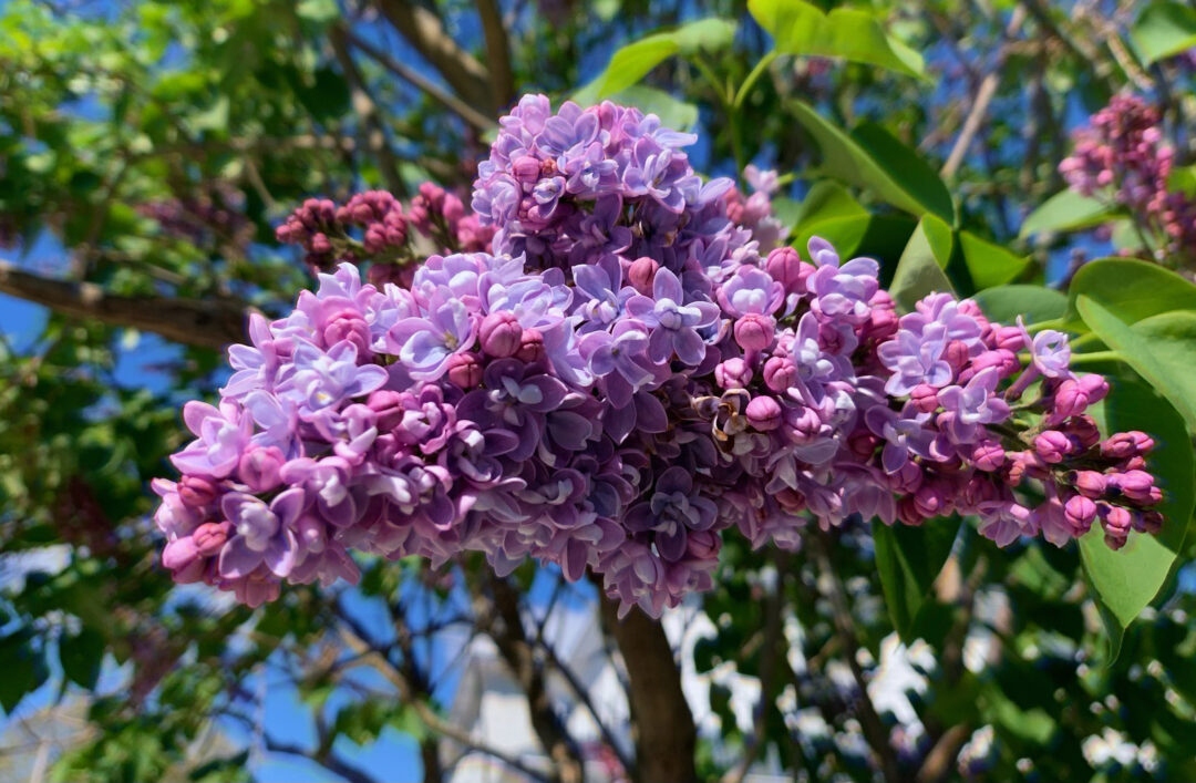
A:
{"type": "Polygon", "coordinates": [[[734,36],[733,22],[710,18],[633,41],[615,51],[606,69],[578,90],[573,99],[585,105],[594,104],[637,84],[653,68],[673,55],[689,56],[698,51],[718,51],[730,47],[734,36]]]}

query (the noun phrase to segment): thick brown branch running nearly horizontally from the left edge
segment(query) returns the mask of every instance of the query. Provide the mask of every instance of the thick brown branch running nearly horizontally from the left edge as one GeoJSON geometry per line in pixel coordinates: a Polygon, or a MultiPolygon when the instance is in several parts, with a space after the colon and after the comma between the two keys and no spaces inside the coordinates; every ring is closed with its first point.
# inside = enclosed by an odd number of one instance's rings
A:
{"type": "Polygon", "coordinates": [[[245,337],[245,308],[222,299],[117,296],[94,283],[42,277],[0,261],[0,293],[74,318],[152,331],[187,345],[222,350],[245,337]]]}

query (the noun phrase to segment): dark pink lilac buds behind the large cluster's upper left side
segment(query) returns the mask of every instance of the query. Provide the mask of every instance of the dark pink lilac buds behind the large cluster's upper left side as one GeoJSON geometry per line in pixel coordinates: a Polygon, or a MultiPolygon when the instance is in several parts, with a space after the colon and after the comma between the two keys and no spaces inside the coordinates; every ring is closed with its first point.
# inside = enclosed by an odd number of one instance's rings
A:
{"type": "Polygon", "coordinates": [[[370,190],[343,206],[328,198],[309,198],[275,231],[283,244],[300,245],[312,274],[330,271],[338,263],[370,262],[370,281],[409,286],[420,239],[441,252],[489,250],[494,230],[469,214],[460,197],[426,182],[404,212],[385,190],[370,190]]]}

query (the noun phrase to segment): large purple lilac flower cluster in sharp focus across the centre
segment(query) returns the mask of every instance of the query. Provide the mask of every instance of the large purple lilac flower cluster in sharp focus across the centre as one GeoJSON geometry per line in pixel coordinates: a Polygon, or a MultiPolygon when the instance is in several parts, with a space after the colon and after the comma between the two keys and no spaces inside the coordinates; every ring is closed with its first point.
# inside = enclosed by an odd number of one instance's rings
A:
{"type": "MultiPolygon", "coordinates": [[[[689,141],[634,109],[525,98],[478,169],[493,253],[432,256],[404,286],[342,263],[286,318],[255,317],[220,404],[184,408],[182,477],[154,483],[175,579],[257,605],[355,580],[353,550],[477,551],[499,574],[588,570],[659,616],[712,586],[730,527],[792,549],[810,519],[977,514],[1002,545],[1158,526],[1149,439],[1100,440],[1084,411],[1106,386],[1070,374],[1061,335],[948,295],[898,317],[878,263],[822,239],[808,263],[762,257],[689,141]]],[[[437,220],[417,216],[443,213],[433,195],[407,225],[437,220]]],[[[393,209],[366,194],[293,220],[377,234],[393,209]]]]}

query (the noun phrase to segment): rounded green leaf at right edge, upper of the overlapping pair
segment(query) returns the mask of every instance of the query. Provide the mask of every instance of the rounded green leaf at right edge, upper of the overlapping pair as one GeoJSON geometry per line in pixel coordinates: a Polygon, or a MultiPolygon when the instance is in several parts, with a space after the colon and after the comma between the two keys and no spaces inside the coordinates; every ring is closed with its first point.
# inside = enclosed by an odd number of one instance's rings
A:
{"type": "Polygon", "coordinates": [[[1084,328],[1076,310],[1081,294],[1127,324],[1172,310],[1196,310],[1196,286],[1158,264],[1131,258],[1098,258],[1080,267],[1068,287],[1069,329],[1084,328]]]}

